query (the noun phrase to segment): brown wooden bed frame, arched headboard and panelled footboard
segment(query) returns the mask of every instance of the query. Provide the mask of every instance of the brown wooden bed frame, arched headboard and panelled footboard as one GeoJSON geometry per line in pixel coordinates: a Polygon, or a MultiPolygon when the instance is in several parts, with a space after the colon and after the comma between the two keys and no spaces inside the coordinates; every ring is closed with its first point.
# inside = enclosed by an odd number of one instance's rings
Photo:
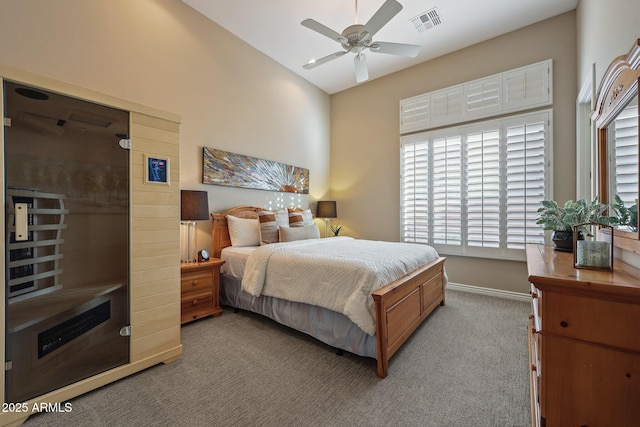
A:
{"type": "MultiPolygon", "coordinates": [[[[211,214],[212,255],[220,258],[222,249],[231,246],[227,215],[257,218],[258,212],[263,210],[254,206],[237,206],[222,214],[211,214]]],[[[391,356],[438,305],[444,305],[444,260],[443,257],[437,258],[373,292],[380,378],[387,376],[391,356]]]]}

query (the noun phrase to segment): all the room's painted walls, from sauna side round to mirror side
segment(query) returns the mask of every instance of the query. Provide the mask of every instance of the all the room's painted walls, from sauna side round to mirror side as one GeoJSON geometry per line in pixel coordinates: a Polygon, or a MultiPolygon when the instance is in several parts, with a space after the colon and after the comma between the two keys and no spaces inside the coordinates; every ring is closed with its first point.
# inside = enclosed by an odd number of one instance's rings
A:
{"type": "MultiPolygon", "coordinates": [[[[274,194],[200,184],[202,146],[307,167],[302,205],[331,196],[345,234],[397,240],[399,100],[547,58],[554,197],[574,197],[577,90],[591,64],[601,77],[640,32],[640,4],[605,3],[580,0],[577,12],[331,97],[178,0],[4,1],[0,62],[179,114],[181,187],[207,190],[212,211],[274,194]]],[[[198,227],[207,247],[210,224],[198,227]]],[[[448,265],[453,282],[526,291],[524,263],[449,257],[448,265]]]]}

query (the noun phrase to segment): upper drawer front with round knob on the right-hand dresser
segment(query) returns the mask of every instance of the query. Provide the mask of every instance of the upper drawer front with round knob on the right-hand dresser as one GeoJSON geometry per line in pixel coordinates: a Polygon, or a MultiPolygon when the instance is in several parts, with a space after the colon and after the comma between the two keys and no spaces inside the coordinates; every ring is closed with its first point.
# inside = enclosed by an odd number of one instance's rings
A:
{"type": "Polygon", "coordinates": [[[543,331],[640,353],[640,305],[545,293],[543,331]]]}

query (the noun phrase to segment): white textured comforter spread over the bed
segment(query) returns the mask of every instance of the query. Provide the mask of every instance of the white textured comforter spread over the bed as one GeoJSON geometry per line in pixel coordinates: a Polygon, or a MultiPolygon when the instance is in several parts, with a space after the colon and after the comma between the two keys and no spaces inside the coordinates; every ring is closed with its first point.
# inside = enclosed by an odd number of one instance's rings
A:
{"type": "Polygon", "coordinates": [[[430,246],[342,236],[272,243],[249,256],[242,287],[337,311],[374,335],[371,293],[437,257],[430,246]]]}

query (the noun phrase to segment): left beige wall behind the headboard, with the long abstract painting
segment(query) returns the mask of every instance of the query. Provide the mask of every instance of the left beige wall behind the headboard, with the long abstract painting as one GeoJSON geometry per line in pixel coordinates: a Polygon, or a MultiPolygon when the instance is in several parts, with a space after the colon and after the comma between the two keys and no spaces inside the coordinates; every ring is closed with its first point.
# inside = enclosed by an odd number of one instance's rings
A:
{"type": "Polygon", "coordinates": [[[203,146],[308,168],[302,206],[328,192],[329,95],[179,0],[2,1],[0,63],[180,115],[180,185],[211,211],[276,194],[201,184],[203,146]]]}

